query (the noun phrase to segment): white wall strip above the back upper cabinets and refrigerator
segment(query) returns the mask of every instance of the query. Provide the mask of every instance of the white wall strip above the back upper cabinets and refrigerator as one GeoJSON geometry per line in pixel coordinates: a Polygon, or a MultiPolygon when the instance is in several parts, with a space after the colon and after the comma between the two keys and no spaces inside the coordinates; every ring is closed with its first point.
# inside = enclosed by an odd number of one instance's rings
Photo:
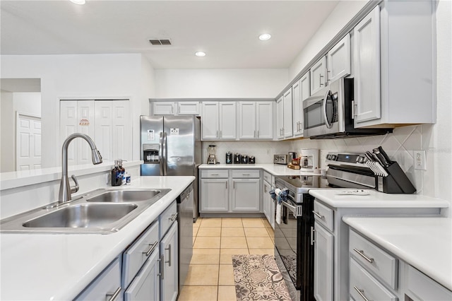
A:
{"type": "Polygon", "coordinates": [[[275,98],[287,69],[170,69],[155,71],[156,98],[275,98]]]}

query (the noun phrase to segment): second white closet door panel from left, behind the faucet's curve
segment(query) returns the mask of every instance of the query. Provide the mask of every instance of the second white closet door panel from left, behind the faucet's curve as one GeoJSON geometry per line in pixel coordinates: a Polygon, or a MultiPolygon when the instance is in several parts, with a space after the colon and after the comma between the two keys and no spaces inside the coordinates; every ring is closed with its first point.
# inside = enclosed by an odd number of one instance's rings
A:
{"type": "MultiPolygon", "coordinates": [[[[79,133],[94,138],[95,115],[94,115],[94,100],[78,100],[77,102],[77,116],[79,133]]],[[[92,164],[91,148],[86,141],[81,138],[77,140],[77,164],[92,164]]],[[[74,140],[75,141],[75,140],[74,140]]]]}

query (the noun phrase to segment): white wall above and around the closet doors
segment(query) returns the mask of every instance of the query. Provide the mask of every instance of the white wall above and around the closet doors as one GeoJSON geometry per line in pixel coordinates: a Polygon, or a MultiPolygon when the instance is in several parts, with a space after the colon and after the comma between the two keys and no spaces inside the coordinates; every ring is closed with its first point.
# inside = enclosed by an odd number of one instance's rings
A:
{"type": "Polygon", "coordinates": [[[152,97],[141,78],[153,74],[142,60],[141,54],[1,56],[1,78],[41,78],[43,167],[60,165],[60,98],[130,99],[133,159],[139,159],[138,116],[152,97]]]}

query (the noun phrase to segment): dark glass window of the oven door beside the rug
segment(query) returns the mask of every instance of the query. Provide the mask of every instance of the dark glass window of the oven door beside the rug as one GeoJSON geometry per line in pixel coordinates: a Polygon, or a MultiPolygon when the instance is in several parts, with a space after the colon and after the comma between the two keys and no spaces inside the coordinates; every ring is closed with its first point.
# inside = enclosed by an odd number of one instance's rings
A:
{"type": "Polygon", "coordinates": [[[281,206],[281,223],[275,224],[275,246],[297,288],[297,218],[285,202],[281,206]]]}

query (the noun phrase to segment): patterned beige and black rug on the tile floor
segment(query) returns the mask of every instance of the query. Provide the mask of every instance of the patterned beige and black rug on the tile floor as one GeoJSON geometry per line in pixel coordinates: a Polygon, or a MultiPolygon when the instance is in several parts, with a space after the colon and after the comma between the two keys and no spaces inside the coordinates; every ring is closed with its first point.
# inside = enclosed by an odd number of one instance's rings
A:
{"type": "Polygon", "coordinates": [[[234,255],[232,266],[237,301],[291,300],[273,256],[234,255]]]}

